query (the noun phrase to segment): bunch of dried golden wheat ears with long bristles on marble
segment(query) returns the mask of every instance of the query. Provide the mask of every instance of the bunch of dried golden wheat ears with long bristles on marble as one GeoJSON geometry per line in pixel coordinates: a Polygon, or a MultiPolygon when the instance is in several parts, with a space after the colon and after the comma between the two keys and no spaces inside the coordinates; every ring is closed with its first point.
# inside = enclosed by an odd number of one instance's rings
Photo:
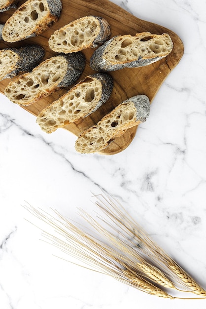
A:
{"type": "Polygon", "coordinates": [[[206,291],[152,240],[114,197],[104,194],[96,197],[95,204],[102,215],[97,214],[94,219],[80,211],[93,232],[79,228],[55,210],[51,215],[29,204],[24,207],[53,228],[52,233],[42,232],[47,242],[89,269],[162,298],[206,299],[206,291]],[[200,297],[175,297],[171,295],[174,290],[200,297]]]}

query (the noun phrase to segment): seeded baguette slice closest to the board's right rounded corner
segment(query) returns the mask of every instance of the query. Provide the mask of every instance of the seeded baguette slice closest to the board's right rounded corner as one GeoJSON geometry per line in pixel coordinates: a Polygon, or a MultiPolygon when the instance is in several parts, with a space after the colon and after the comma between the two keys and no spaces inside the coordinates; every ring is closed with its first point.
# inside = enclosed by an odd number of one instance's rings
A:
{"type": "Polygon", "coordinates": [[[116,36],[105,42],[92,55],[90,67],[95,71],[116,71],[152,64],[172,51],[170,36],[150,32],[116,36]]]}

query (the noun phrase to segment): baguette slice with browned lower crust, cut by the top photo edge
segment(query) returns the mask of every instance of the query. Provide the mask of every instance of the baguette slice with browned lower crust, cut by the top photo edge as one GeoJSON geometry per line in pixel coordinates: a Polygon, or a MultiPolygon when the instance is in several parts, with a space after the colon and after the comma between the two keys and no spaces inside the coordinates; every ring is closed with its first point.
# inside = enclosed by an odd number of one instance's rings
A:
{"type": "Polygon", "coordinates": [[[28,0],[6,21],[2,38],[16,42],[39,35],[58,20],[61,10],[61,0],[28,0]]]}

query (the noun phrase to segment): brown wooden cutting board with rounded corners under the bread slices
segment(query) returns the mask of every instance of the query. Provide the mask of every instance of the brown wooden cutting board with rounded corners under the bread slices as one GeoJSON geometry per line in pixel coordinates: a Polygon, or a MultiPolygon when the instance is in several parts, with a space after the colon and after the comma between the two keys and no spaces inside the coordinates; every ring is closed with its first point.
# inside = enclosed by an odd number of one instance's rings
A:
{"type": "MultiPolygon", "coordinates": [[[[78,136],[82,131],[92,126],[93,124],[96,124],[103,116],[105,116],[114,107],[116,107],[119,103],[126,100],[127,98],[138,94],[145,94],[150,99],[150,102],[152,102],[165,78],[179,63],[184,52],[184,46],[181,39],[171,30],[166,29],[160,25],[138,19],[137,17],[133,16],[129,12],[108,0],[62,0],[62,2],[63,9],[58,22],[54,23],[52,27],[45,31],[43,34],[35,38],[26,39],[17,43],[0,42],[0,48],[18,47],[28,43],[37,43],[40,44],[46,51],[44,57],[45,60],[46,58],[57,54],[50,50],[48,47],[48,39],[52,33],[62,26],[69,24],[71,21],[86,15],[104,17],[111,26],[111,37],[125,34],[131,34],[134,36],[138,32],[147,31],[151,32],[152,34],[163,34],[164,32],[167,32],[170,34],[173,41],[172,52],[167,58],[164,58],[152,65],[143,68],[123,69],[110,72],[109,74],[114,79],[114,88],[109,100],[96,113],[93,113],[86,118],[65,126],[65,129],[78,136]]],[[[21,4],[22,1],[19,3],[21,4]]],[[[4,23],[13,14],[14,11],[14,9],[11,9],[7,12],[0,13],[0,23],[4,23]]],[[[95,73],[95,71],[89,67],[89,60],[93,52],[94,49],[92,48],[83,51],[86,57],[86,68],[77,82],[87,75],[95,73]]],[[[4,79],[0,82],[1,93],[4,93],[4,89],[9,81],[10,79],[4,79]]],[[[57,100],[62,94],[67,92],[69,88],[60,90],[55,94],[50,95],[49,97],[39,100],[33,105],[23,108],[32,113],[34,116],[37,116],[42,109],[51,104],[53,101],[57,100]]],[[[136,131],[137,126],[127,130],[124,135],[116,138],[114,142],[111,143],[101,153],[117,154],[123,151],[132,142],[136,131]]]]}

